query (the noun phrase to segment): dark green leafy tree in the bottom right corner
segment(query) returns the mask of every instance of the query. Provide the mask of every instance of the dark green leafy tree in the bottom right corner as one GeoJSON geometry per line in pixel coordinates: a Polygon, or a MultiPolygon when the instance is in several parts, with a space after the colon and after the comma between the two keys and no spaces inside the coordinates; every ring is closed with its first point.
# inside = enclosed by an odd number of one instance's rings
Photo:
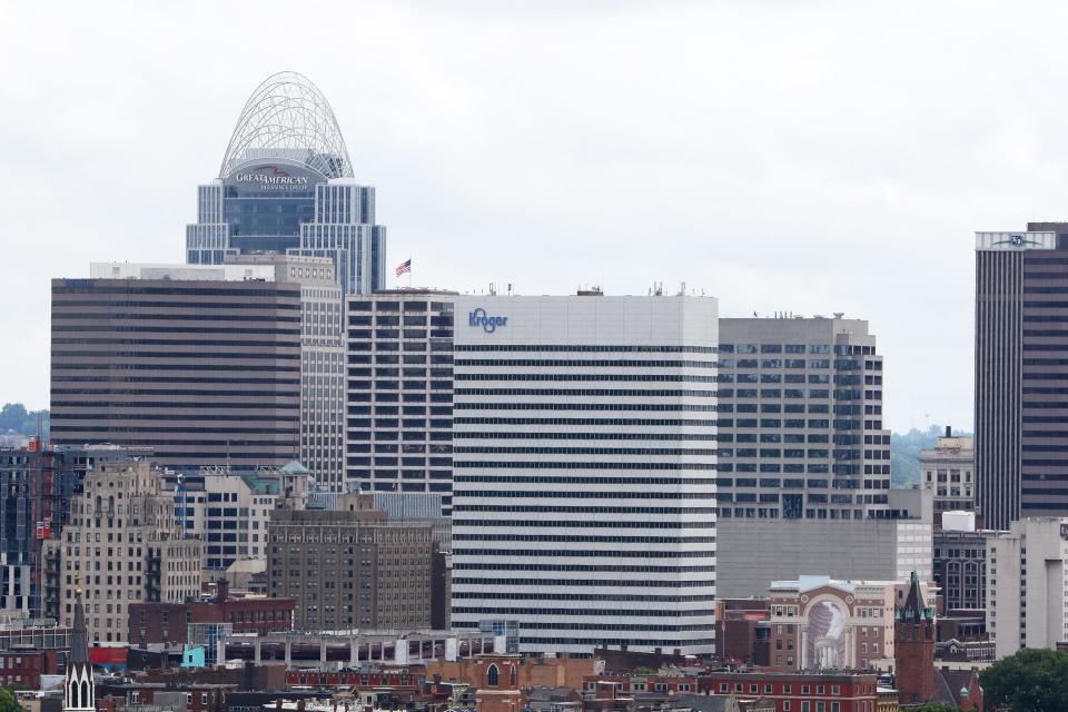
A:
{"type": "Polygon", "coordinates": [[[988,709],[1068,710],[1068,653],[1024,649],[979,673],[988,709]]]}

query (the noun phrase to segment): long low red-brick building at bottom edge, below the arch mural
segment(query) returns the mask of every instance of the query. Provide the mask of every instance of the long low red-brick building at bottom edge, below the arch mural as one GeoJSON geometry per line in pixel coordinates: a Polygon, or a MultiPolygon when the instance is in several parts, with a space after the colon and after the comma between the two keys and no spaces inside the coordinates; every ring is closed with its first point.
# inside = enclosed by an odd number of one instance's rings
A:
{"type": "Polygon", "coordinates": [[[775,712],[877,712],[877,683],[863,673],[710,672],[698,678],[698,692],[760,696],[775,712]]]}

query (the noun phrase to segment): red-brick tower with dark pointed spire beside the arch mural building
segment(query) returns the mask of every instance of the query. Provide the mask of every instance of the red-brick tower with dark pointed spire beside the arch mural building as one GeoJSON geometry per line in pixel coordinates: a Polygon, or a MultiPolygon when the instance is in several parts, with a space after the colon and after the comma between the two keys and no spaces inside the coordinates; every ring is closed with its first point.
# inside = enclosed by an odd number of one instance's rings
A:
{"type": "Polygon", "coordinates": [[[914,571],[893,620],[893,668],[901,704],[934,699],[934,609],[927,606],[914,571]]]}

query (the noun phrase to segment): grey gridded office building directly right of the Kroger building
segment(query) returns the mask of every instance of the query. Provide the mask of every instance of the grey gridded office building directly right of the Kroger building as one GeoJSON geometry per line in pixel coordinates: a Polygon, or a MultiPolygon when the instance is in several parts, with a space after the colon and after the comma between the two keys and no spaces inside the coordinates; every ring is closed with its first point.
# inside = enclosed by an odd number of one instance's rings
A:
{"type": "Polygon", "coordinates": [[[721,526],[888,514],[882,356],[867,322],[720,319],[719,377],[721,526]]]}

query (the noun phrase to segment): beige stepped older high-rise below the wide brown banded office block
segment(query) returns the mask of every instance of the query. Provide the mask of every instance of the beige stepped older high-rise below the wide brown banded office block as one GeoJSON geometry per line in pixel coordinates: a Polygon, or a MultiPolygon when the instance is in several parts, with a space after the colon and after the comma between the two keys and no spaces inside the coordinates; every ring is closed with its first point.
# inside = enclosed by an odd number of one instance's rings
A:
{"type": "Polygon", "coordinates": [[[66,625],[79,587],[95,642],[125,640],[131,603],[179,603],[200,593],[200,541],[182,537],[175,501],[148,463],[98,465],[70,506],[60,552],[66,625]]]}

